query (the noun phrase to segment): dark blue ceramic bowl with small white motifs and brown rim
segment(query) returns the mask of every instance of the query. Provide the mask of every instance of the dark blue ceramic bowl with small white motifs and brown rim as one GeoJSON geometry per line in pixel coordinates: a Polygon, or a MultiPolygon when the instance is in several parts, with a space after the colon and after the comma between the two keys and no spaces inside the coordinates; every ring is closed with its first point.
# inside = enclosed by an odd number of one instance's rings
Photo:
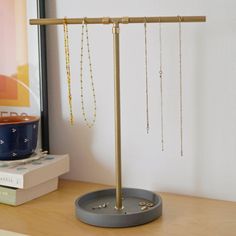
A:
{"type": "Polygon", "coordinates": [[[39,117],[0,117],[0,160],[19,160],[34,153],[39,117]]]}

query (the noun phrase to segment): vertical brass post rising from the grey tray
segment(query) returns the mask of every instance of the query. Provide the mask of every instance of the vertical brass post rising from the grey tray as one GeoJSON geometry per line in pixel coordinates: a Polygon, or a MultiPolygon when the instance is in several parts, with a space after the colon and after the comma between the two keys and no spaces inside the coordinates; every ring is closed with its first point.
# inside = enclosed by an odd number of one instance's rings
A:
{"type": "Polygon", "coordinates": [[[115,101],[115,168],[116,168],[116,206],[122,209],[122,183],[121,183],[121,119],[120,119],[120,43],[119,23],[114,23],[113,54],[114,54],[114,101],[115,101]]]}

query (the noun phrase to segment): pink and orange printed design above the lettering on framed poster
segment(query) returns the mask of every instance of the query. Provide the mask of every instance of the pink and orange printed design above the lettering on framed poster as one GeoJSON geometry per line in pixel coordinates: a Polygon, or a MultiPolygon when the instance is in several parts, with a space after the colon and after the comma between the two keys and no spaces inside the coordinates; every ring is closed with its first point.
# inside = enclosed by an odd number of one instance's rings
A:
{"type": "Polygon", "coordinates": [[[0,106],[29,107],[26,0],[0,1],[0,106]]]}

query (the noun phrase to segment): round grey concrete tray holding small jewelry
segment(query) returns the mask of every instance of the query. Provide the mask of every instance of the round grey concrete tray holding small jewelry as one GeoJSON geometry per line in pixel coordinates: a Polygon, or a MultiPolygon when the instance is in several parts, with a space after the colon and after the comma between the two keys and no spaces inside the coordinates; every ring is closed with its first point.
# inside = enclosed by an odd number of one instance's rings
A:
{"type": "Polygon", "coordinates": [[[148,223],[162,215],[159,195],[143,189],[122,189],[123,209],[115,209],[115,189],[83,195],[75,201],[76,217],[100,227],[129,227],[148,223]]]}

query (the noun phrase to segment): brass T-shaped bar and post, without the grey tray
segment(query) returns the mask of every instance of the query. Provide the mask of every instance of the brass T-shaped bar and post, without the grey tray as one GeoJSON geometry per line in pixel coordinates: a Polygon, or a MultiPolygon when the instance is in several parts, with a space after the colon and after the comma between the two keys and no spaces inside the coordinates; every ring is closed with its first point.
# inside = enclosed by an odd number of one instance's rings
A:
{"type": "MultiPolygon", "coordinates": [[[[86,18],[86,24],[113,24],[114,47],[114,90],[115,90],[115,155],[116,155],[116,207],[122,207],[121,184],[121,119],[120,119],[120,58],[119,58],[119,24],[133,23],[187,23],[205,22],[205,16],[163,16],[163,17],[119,17],[119,18],[86,18]]],[[[83,24],[84,18],[68,18],[66,24],[83,24]]],[[[63,18],[30,19],[31,25],[63,25],[63,18]]]]}

